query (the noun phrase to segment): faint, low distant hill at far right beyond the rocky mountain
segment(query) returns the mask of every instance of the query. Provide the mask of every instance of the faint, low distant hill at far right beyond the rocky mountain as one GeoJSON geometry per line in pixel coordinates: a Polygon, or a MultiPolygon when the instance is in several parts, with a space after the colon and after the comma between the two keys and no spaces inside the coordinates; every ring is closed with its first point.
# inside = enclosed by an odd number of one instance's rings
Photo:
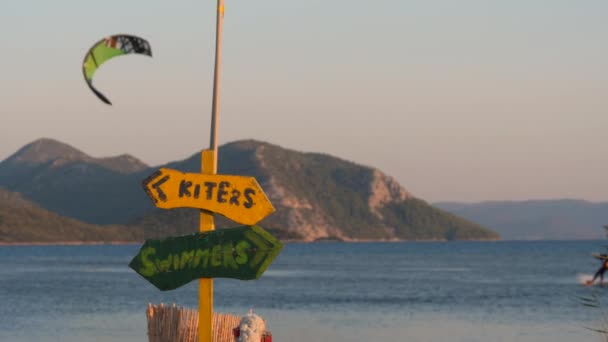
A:
{"type": "Polygon", "coordinates": [[[605,238],[608,203],[581,200],[535,200],[481,203],[435,203],[455,215],[492,227],[508,240],[605,238]]]}

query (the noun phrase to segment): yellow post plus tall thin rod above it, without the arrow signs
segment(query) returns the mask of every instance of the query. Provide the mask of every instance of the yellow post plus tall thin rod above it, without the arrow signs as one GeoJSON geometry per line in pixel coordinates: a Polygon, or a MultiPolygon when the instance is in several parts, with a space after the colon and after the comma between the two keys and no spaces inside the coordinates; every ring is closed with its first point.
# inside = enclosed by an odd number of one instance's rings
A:
{"type": "MultiPolygon", "coordinates": [[[[217,0],[215,30],[215,68],[213,76],[213,103],[211,106],[211,141],[209,150],[201,154],[201,172],[217,174],[217,136],[220,109],[220,66],[222,59],[222,27],[224,24],[224,0],[217,0]]],[[[201,210],[200,231],[215,229],[213,213],[201,210]]],[[[213,279],[200,279],[198,286],[198,341],[212,342],[213,325],[213,279]]]]}

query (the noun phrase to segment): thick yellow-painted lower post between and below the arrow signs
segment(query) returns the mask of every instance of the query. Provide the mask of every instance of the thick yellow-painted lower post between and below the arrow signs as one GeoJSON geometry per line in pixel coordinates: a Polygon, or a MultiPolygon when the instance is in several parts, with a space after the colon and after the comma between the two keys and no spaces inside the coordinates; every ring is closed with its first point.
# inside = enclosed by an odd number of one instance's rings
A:
{"type": "MultiPolygon", "coordinates": [[[[215,174],[217,159],[213,150],[204,150],[201,154],[201,171],[204,174],[215,174]]],[[[200,231],[214,230],[213,213],[201,210],[200,231]]],[[[202,278],[198,283],[198,340],[211,342],[213,323],[213,278],[202,278]]]]}

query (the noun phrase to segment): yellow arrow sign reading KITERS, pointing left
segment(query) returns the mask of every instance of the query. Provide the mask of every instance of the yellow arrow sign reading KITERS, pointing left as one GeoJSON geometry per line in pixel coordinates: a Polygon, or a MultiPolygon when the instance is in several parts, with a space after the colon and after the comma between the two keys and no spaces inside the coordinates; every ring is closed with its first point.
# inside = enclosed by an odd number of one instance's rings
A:
{"type": "Polygon", "coordinates": [[[254,225],[274,211],[253,177],[161,168],[142,185],[157,208],[205,209],[245,225],[254,225]]]}

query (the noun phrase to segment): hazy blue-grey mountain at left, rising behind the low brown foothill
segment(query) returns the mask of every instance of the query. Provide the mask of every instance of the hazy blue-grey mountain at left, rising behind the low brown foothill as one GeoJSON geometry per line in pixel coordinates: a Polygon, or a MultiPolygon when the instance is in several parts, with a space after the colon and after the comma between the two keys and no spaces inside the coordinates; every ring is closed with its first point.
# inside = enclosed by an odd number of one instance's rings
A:
{"type": "Polygon", "coordinates": [[[63,216],[124,223],[149,209],[139,187],[148,168],[129,155],[93,158],[59,141],[39,139],[0,163],[0,187],[63,216]]]}

